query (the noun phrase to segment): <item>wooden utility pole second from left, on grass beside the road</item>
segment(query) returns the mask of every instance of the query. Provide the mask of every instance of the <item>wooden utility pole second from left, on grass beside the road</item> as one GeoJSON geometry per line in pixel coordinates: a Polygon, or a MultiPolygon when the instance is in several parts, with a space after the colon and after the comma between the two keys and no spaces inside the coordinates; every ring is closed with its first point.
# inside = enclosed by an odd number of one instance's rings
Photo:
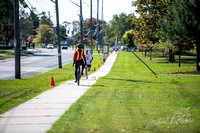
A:
{"type": "Polygon", "coordinates": [[[60,24],[59,24],[59,12],[58,12],[58,0],[51,0],[56,5],[56,22],[57,22],[57,49],[58,49],[58,67],[62,68],[62,58],[60,50],[60,24]]]}

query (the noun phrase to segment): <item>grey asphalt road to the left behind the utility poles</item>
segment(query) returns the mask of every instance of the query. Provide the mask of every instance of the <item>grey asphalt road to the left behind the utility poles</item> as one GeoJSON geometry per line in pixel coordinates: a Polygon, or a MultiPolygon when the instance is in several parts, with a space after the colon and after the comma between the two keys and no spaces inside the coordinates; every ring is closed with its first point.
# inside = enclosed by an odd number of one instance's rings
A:
{"type": "MultiPolygon", "coordinates": [[[[21,77],[29,77],[58,68],[57,49],[29,49],[32,55],[21,56],[21,77]]],[[[72,62],[74,51],[62,50],[62,66],[72,62]]],[[[0,80],[15,78],[15,59],[0,60],[0,80]]]]}

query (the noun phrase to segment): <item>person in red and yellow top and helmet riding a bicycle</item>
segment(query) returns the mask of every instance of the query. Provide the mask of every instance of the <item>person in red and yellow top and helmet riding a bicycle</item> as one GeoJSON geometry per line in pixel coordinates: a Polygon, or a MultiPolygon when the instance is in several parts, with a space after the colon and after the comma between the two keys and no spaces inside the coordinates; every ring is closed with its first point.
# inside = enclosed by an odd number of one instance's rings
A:
{"type": "Polygon", "coordinates": [[[77,48],[77,50],[74,52],[74,58],[73,58],[73,60],[74,60],[73,65],[75,64],[75,78],[76,78],[75,83],[77,82],[77,69],[78,69],[78,64],[81,64],[81,65],[82,65],[81,75],[83,75],[83,70],[84,70],[85,64],[86,64],[85,54],[84,54],[84,50],[83,50],[83,48],[84,48],[83,44],[82,44],[82,43],[79,43],[79,44],[77,45],[77,47],[78,47],[78,48],[77,48]],[[84,63],[83,59],[84,59],[85,63],[84,63]]]}

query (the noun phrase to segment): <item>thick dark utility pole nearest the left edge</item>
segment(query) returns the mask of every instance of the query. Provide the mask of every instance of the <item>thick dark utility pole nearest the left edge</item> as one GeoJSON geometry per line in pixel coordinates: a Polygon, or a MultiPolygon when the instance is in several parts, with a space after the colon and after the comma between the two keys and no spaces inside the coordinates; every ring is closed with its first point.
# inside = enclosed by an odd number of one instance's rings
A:
{"type": "Polygon", "coordinates": [[[14,0],[14,14],[15,14],[15,78],[21,79],[21,60],[20,60],[20,31],[19,31],[19,0],[14,0]]]}

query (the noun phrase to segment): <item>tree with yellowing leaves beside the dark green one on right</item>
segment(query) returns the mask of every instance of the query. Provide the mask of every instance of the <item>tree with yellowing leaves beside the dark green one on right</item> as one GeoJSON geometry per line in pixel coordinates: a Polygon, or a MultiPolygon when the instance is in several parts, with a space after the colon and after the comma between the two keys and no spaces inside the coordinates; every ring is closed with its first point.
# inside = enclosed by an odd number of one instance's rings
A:
{"type": "Polygon", "coordinates": [[[136,0],[134,6],[139,18],[133,18],[131,25],[135,27],[135,39],[140,47],[152,48],[152,44],[158,42],[156,37],[160,29],[158,20],[163,18],[173,0],[136,0]]]}

